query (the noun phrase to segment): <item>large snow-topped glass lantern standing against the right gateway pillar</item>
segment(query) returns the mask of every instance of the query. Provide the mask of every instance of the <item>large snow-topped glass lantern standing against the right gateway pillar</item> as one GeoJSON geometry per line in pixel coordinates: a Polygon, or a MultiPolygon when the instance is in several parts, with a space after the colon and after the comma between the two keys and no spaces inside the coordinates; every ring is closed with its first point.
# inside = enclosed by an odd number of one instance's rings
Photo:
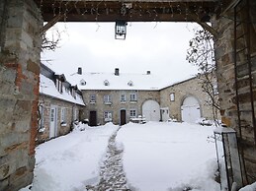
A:
{"type": "Polygon", "coordinates": [[[232,128],[219,127],[214,130],[220,190],[231,191],[243,186],[241,163],[238,155],[236,132],[232,128]]]}

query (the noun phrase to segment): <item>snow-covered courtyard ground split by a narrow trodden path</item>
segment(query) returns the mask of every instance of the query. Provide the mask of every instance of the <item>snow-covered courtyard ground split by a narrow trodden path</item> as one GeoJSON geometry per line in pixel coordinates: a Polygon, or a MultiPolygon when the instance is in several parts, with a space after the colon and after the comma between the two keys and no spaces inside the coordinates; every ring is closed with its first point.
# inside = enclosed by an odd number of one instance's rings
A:
{"type": "MultiPolygon", "coordinates": [[[[118,167],[118,173],[124,172],[122,186],[130,190],[219,191],[219,184],[213,181],[213,127],[174,122],[129,123],[119,130],[111,147],[109,140],[118,126],[84,128],[37,148],[32,191],[102,190],[99,188],[104,186],[100,184],[107,181],[103,176],[111,179],[108,176],[112,173],[106,177],[110,163],[114,164],[112,170],[118,167]]],[[[29,191],[29,187],[22,191],[29,191]]]]}

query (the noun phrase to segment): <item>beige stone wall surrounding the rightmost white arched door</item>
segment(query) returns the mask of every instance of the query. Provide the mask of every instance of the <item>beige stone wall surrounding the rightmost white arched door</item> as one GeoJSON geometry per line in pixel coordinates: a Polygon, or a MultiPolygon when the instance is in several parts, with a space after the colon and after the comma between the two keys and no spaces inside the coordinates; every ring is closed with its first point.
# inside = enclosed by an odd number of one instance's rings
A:
{"type": "Polygon", "coordinates": [[[161,107],[169,107],[170,117],[178,121],[182,120],[181,105],[187,96],[195,96],[201,106],[202,117],[213,119],[212,106],[208,103],[209,96],[202,90],[199,78],[193,78],[177,83],[160,91],[161,107]],[[175,95],[174,101],[170,100],[170,94],[175,95]]]}

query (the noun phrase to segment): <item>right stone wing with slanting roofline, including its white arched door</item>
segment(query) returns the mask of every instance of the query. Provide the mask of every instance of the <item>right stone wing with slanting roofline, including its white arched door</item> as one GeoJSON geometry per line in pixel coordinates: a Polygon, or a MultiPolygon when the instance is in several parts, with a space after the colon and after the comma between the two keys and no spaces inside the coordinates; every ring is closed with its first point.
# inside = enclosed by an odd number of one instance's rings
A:
{"type": "Polygon", "coordinates": [[[201,83],[194,77],[161,89],[161,107],[167,107],[170,117],[178,121],[195,122],[201,117],[213,120],[210,96],[203,92],[201,83]]]}

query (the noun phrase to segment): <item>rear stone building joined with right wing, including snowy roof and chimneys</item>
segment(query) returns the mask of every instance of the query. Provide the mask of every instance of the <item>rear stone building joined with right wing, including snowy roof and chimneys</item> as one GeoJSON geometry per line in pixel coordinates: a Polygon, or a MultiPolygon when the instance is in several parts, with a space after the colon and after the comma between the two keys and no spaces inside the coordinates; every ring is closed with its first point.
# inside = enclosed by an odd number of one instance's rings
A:
{"type": "Polygon", "coordinates": [[[117,68],[111,74],[82,74],[79,68],[71,79],[83,93],[86,107],[82,118],[92,126],[109,121],[123,125],[139,116],[145,121],[213,119],[209,96],[203,92],[198,77],[164,86],[150,71],[126,74],[117,68]]]}

